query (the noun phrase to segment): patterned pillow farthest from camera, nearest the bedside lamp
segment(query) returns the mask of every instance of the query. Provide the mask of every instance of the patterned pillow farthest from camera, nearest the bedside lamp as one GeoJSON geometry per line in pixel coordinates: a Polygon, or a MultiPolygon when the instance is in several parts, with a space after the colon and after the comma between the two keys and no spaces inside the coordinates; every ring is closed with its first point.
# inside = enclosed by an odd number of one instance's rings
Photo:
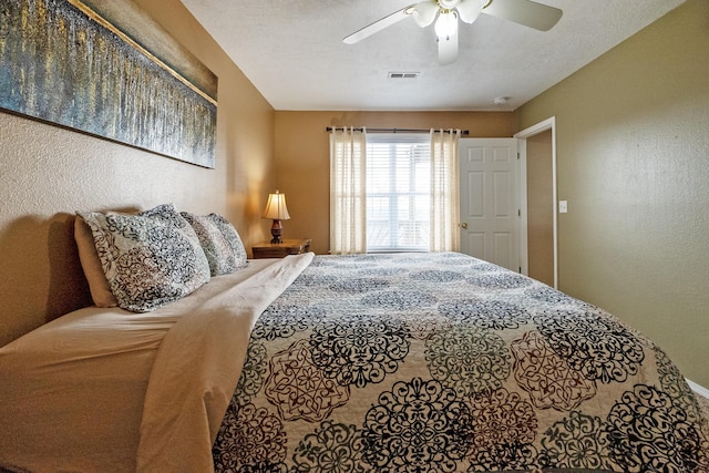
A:
{"type": "Polygon", "coordinates": [[[217,214],[193,215],[181,212],[194,228],[212,276],[228,275],[246,267],[246,248],[236,228],[217,214]]]}

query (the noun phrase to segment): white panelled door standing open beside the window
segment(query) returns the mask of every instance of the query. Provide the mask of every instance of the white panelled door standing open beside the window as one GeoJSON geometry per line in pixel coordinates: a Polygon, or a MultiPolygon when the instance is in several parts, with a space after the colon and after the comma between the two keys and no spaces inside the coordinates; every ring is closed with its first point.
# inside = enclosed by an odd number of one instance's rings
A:
{"type": "Polygon", "coordinates": [[[517,140],[461,138],[461,251],[520,271],[517,140]]]}

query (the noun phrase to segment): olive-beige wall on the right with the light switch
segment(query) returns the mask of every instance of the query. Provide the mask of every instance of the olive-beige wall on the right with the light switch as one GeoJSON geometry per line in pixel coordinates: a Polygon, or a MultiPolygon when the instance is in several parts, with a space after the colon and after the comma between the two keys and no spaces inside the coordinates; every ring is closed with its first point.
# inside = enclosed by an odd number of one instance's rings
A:
{"type": "Polygon", "coordinates": [[[709,387],[709,2],[688,0],[518,112],[557,123],[561,289],[709,387]]]}

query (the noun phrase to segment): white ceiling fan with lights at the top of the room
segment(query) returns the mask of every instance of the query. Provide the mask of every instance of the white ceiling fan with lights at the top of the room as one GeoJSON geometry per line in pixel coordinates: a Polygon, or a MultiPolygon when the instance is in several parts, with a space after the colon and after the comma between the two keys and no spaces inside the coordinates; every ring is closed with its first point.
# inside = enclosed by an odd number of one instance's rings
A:
{"type": "Polygon", "coordinates": [[[404,7],[346,37],[342,41],[354,44],[404,18],[412,17],[425,28],[435,22],[439,62],[450,64],[458,58],[458,20],[473,23],[481,13],[547,31],[562,18],[562,10],[532,0],[422,0],[404,7]]]}

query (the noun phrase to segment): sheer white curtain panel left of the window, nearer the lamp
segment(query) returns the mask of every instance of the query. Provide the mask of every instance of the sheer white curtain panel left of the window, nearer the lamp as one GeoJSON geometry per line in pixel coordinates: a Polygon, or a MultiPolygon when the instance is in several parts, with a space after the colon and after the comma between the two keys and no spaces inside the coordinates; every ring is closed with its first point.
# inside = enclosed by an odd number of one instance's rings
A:
{"type": "Polygon", "coordinates": [[[335,128],[330,133],[330,254],[367,250],[367,132],[335,128]]]}

